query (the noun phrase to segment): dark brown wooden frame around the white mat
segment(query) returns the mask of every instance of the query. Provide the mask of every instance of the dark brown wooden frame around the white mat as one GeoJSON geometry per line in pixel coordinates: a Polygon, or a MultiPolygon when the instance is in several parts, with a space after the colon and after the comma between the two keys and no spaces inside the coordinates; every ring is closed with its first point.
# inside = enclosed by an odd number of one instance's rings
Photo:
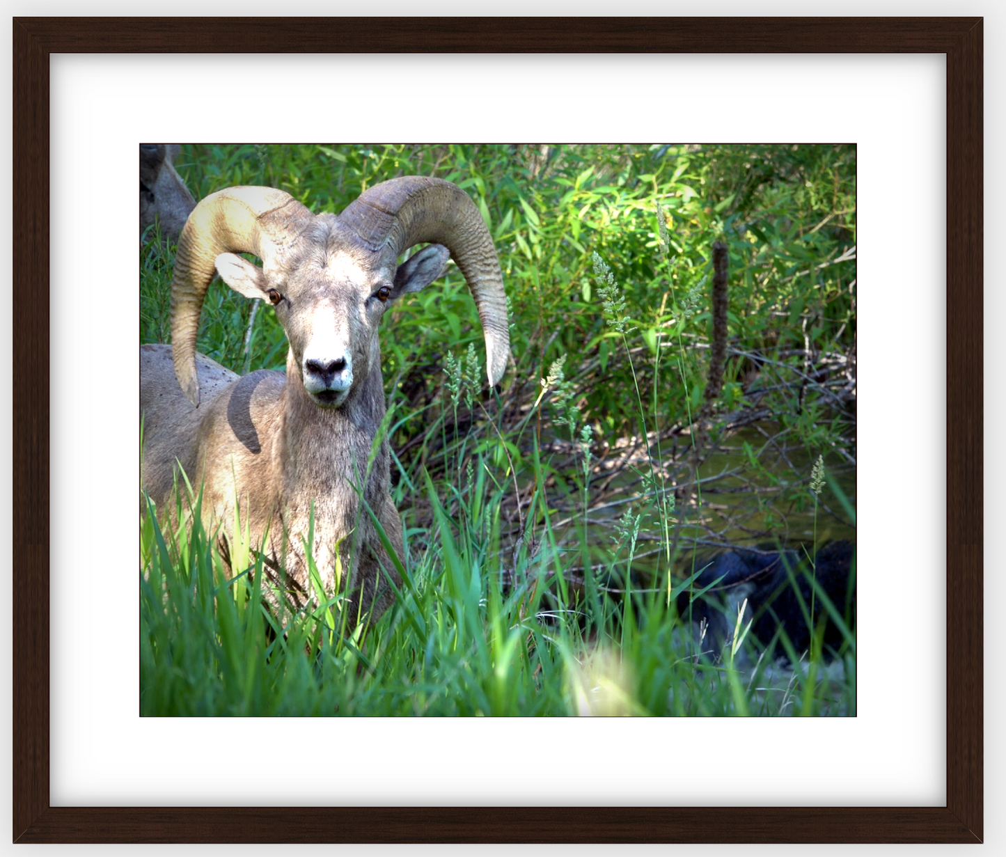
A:
{"type": "Polygon", "coordinates": [[[981,18],[15,18],[15,842],[981,842],[981,18]],[[416,38],[416,33],[422,38],[416,38]],[[422,48],[416,48],[422,44],[422,48]],[[947,55],[947,806],[49,806],[49,54],[332,52],[947,55]]]}

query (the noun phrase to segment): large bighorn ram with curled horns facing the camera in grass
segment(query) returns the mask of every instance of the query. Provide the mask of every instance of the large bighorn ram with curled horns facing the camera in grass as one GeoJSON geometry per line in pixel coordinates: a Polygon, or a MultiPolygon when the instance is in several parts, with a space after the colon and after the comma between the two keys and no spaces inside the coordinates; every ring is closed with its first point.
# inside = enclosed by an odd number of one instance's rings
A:
{"type": "Polygon", "coordinates": [[[359,611],[379,616],[391,599],[380,566],[400,581],[361,494],[402,558],[403,549],[387,439],[375,443],[385,413],[377,326],[392,301],[436,280],[449,254],[475,299],[495,385],[510,353],[503,279],[479,209],[456,185],[392,179],[339,215],[312,214],[267,187],[203,199],[178,244],[173,348],[140,349],[142,483],[159,515],[173,505],[176,461],[194,488],[202,486],[205,520],[229,528],[236,498],[253,542],[268,529],[267,575],[296,610],[312,591],[305,544],[313,509],[311,548],[326,592],[336,588],[338,554],[343,586],[350,575],[350,625],[359,611]],[[397,264],[427,241],[434,243],[397,264]],[[255,253],[263,268],[239,252],[255,253]],[[234,291],[275,307],[290,345],[286,374],[238,377],[195,352],[214,271],[234,291]]]}

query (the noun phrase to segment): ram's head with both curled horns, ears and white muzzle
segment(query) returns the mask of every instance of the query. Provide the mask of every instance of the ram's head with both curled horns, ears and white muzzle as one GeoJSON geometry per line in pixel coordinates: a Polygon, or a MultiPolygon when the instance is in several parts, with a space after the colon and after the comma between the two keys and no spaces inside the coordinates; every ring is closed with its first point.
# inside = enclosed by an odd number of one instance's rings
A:
{"type": "Polygon", "coordinates": [[[182,232],[172,284],[175,373],[198,405],[195,337],[213,272],[276,309],[290,341],[288,378],[322,407],[346,402],[380,360],[377,327],[396,298],[436,280],[453,256],[475,298],[496,384],[510,340],[489,230],[471,198],[440,179],[375,185],[341,214],[313,214],[289,194],[234,187],[202,200],[182,232]],[[432,242],[401,265],[411,246],[432,242]],[[255,253],[258,268],[236,253],[255,253]]]}

